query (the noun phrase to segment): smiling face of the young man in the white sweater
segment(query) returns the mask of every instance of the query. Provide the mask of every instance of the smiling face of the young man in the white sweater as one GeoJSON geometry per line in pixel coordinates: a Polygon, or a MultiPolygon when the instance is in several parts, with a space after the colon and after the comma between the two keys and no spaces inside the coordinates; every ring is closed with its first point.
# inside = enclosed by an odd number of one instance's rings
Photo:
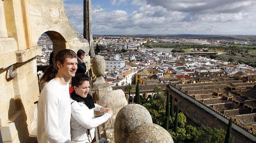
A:
{"type": "Polygon", "coordinates": [[[62,76],[67,78],[74,77],[77,69],[78,60],[76,58],[65,58],[64,63],[59,67],[62,76]]]}

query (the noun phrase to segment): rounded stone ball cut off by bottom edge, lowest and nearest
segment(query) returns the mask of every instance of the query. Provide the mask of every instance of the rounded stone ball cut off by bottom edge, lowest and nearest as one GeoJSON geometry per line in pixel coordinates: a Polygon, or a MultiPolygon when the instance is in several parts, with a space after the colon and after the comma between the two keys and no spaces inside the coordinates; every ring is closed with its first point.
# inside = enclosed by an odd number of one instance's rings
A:
{"type": "Polygon", "coordinates": [[[157,124],[142,124],[132,130],[126,143],[174,143],[173,138],[157,124]]]}

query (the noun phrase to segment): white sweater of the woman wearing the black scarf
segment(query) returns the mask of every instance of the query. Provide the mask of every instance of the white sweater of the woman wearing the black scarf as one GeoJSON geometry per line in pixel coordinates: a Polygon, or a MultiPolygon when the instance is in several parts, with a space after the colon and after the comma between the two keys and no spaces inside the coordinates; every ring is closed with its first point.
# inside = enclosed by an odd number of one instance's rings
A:
{"type": "Polygon", "coordinates": [[[71,99],[71,136],[76,143],[91,142],[94,138],[95,127],[106,122],[111,115],[105,113],[103,116],[94,119],[94,111],[101,111],[98,104],[94,104],[93,109],[89,109],[83,102],[76,102],[71,99]],[[87,129],[90,129],[91,137],[87,129]]]}

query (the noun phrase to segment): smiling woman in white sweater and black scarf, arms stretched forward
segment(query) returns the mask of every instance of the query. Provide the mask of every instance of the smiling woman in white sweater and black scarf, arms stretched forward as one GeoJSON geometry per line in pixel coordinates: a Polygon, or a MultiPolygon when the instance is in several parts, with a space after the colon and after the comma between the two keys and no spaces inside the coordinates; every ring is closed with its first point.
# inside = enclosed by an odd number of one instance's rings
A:
{"type": "Polygon", "coordinates": [[[71,93],[71,137],[76,143],[91,143],[94,138],[95,127],[106,122],[112,111],[93,101],[89,94],[89,77],[78,73],[71,81],[74,91],[71,93]],[[94,119],[94,111],[106,112],[94,119]]]}

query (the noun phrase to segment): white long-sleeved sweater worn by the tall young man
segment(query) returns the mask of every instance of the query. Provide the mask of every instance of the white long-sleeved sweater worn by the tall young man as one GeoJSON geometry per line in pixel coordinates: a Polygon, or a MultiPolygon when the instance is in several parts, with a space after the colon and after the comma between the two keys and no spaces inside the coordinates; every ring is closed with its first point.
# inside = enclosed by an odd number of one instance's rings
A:
{"type": "Polygon", "coordinates": [[[60,85],[52,79],[41,91],[37,113],[37,140],[39,143],[70,142],[69,85],[60,85]]]}

